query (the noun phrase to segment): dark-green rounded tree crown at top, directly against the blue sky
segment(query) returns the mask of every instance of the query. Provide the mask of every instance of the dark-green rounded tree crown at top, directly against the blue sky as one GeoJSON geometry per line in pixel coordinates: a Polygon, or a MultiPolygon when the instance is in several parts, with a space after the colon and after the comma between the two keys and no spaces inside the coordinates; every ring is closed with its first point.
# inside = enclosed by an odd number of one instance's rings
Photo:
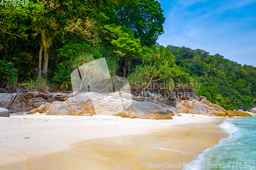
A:
{"type": "Polygon", "coordinates": [[[156,0],[121,1],[115,7],[115,13],[109,15],[116,16],[112,17],[112,23],[131,28],[142,46],[155,45],[158,37],[164,33],[165,17],[156,0]]]}

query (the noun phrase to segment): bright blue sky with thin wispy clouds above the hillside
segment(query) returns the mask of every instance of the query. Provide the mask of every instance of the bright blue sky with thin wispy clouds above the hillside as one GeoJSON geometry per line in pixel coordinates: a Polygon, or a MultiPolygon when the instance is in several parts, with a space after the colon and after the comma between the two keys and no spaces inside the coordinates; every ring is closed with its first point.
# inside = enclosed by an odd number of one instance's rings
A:
{"type": "Polygon", "coordinates": [[[256,0],[158,0],[165,23],[160,45],[201,49],[256,67],[256,0]]]}

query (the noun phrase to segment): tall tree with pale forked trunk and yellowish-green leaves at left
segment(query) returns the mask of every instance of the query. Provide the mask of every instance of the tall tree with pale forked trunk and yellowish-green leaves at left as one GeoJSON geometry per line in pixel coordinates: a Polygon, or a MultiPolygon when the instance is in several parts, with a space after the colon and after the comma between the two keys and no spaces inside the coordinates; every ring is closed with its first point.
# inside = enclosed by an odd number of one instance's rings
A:
{"type": "MultiPolygon", "coordinates": [[[[48,50],[53,39],[62,37],[67,32],[80,34],[88,41],[97,41],[93,17],[99,12],[100,2],[92,1],[42,1],[39,4],[44,12],[33,20],[35,34],[40,34],[38,77],[41,77],[41,58],[44,51],[42,74],[47,77],[48,50]],[[95,3],[95,4],[93,4],[95,3]]],[[[101,2],[102,3],[102,2],[101,2]]]]}

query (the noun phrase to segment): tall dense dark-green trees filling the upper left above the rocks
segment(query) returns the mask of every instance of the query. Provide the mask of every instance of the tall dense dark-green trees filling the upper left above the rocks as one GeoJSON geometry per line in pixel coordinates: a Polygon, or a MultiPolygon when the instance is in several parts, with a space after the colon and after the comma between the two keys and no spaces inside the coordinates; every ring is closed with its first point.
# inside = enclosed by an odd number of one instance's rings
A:
{"type": "Polygon", "coordinates": [[[68,69],[101,57],[125,75],[140,43],[154,45],[165,20],[156,0],[29,1],[0,11],[0,60],[14,63],[20,81],[52,78],[60,62],[68,69]]]}

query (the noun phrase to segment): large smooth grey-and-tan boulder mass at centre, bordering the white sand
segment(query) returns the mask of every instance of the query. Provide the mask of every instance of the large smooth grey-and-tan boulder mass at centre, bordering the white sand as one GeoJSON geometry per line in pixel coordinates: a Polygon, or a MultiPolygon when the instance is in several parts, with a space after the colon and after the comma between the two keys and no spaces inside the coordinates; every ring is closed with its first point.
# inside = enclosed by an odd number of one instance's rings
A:
{"type": "Polygon", "coordinates": [[[86,92],[64,102],[42,103],[30,113],[41,112],[52,115],[116,115],[144,119],[173,119],[174,113],[150,102],[132,100],[134,96],[125,92],[100,94],[86,92]]]}

